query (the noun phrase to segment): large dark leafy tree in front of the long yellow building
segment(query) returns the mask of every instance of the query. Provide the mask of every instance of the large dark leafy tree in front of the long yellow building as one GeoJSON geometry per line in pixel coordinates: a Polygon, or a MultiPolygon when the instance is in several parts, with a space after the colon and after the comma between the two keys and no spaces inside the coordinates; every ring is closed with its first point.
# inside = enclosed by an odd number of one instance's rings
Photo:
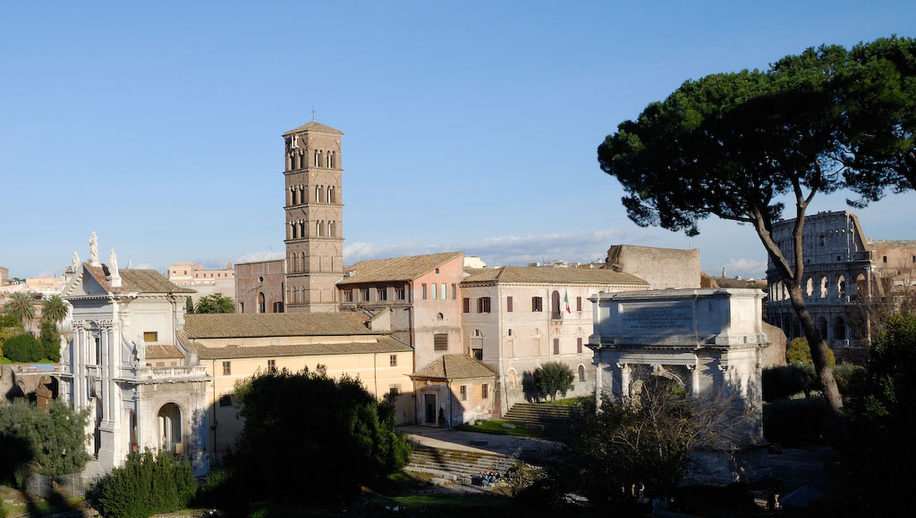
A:
{"type": "Polygon", "coordinates": [[[326,502],[397,472],[409,458],[394,406],[353,378],[284,370],[237,385],[235,395],[245,418],[235,474],[253,498],[326,502]]]}

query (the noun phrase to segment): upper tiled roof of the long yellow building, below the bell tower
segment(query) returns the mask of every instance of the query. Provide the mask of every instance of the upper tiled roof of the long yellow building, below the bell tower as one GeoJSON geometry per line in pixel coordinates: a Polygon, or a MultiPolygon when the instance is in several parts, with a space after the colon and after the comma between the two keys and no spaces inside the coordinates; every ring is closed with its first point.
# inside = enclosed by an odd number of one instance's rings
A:
{"type": "Polygon", "coordinates": [[[187,315],[184,334],[198,338],[346,336],[380,334],[361,313],[217,313],[187,315]]]}

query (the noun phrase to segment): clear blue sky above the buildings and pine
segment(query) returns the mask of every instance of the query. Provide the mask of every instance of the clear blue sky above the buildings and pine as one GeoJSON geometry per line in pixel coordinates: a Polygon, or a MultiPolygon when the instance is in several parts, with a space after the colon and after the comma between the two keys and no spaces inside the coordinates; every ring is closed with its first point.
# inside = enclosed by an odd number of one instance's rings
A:
{"type": "MultiPolygon", "coordinates": [[[[916,36],[911,2],[0,1],[0,265],[59,274],[92,231],[159,270],[281,254],[280,135],[314,107],[345,133],[347,263],[630,243],[760,276],[750,227],[629,221],[595,148],[687,79],[891,34],[916,36]]],[[[857,213],[868,237],[914,239],[914,203],[857,213]]]]}

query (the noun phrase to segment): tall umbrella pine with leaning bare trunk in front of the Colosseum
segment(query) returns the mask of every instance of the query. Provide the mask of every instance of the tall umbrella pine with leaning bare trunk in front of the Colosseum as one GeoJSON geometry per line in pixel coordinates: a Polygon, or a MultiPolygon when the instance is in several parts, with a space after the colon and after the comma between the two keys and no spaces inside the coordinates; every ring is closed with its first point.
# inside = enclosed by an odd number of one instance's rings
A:
{"type": "Polygon", "coordinates": [[[598,147],[601,168],[623,185],[624,207],[638,225],[695,235],[699,221],[714,215],[754,227],[812,339],[812,360],[837,414],[843,402],[800,286],[805,210],[817,193],[843,185],[844,119],[834,83],[845,56],[840,47],[808,49],[767,71],[686,81],[598,147]],[[791,243],[777,243],[772,232],[783,198],[794,203],[791,243]]]}

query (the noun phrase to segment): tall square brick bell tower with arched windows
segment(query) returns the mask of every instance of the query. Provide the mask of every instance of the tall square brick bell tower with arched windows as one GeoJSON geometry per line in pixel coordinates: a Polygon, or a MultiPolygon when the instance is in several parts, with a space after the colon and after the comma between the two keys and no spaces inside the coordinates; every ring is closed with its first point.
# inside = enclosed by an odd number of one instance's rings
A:
{"type": "Polygon", "coordinates": [[[344,277],[342,136],[314,121],[283,134],[289,313],[337,311],[335,285],[344,277]]]}

